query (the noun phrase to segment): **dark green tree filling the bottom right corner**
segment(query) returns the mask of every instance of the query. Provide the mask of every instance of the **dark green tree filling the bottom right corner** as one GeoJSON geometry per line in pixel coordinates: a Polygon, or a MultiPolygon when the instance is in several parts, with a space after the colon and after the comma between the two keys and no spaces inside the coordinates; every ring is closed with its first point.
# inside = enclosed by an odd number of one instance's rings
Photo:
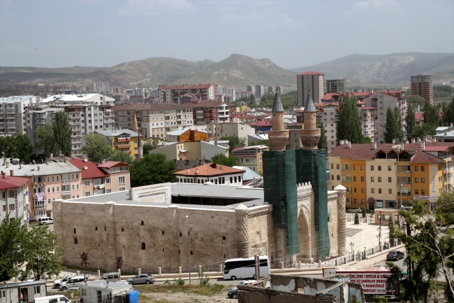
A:
{"type": "Polygon", "coordinates": [[[441,274],[446,280],[446,299],[454,302],[454,230],[450,227],[454,224],[453,201],[451,190],[439,195],[432,214],[427,213],[427,204],[422,200],[414,202],[411,211],[399,211],[407,222],[407,232],[396,230],[397,238],[407,248],[408,274],[401,283],[402,300],[428,302],[430,289],[441,274]]]}

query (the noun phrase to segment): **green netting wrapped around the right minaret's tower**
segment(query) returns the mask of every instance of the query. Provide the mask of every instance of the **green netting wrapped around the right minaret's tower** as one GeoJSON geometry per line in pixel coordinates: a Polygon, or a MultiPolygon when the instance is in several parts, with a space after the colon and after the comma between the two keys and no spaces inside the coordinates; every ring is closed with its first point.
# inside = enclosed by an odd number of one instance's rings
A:
{"type": "Polygon", "coordinates": [[[314,190],[314,225],[318,232],[318,258],[330,255],[328,232],[328,188],[326,180],[326,150],[295,150],[296,183],[310,182],[314,190]]]}

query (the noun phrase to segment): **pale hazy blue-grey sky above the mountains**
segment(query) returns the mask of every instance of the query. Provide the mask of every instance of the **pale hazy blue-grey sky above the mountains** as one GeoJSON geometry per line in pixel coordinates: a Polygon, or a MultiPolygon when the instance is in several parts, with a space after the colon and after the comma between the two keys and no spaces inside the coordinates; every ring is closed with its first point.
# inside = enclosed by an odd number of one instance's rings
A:
{"type": "Polygon", "coordinates": [[[238,53],[291,69],[356,52],[454,52],[454,1],[0,0],[0,66],[238,53]]]}

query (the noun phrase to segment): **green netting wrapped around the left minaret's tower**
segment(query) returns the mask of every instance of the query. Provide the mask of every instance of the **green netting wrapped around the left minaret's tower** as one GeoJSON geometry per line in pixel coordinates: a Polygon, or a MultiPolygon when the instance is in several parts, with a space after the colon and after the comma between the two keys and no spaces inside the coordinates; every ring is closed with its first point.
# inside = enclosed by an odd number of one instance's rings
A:
{"type": "Polygon", "coordinates": [[[295,150],[263,153],[265,202],[273,206],[274,227],[287,230],[289,255],[300,248],[295,169],[295,150]]]}

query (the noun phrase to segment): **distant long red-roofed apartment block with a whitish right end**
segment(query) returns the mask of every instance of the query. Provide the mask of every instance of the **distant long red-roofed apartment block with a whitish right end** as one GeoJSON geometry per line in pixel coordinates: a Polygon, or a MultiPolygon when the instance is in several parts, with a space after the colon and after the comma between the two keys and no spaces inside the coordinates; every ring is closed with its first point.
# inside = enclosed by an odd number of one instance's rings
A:
{"type": "Polygon", "coordinates": [[[159,102],[180,103],[183,94],[196,94],[200,100],[214,100],[217,94],[217,85],[186,84],[186,85],[159,85],[159,102]]]}

